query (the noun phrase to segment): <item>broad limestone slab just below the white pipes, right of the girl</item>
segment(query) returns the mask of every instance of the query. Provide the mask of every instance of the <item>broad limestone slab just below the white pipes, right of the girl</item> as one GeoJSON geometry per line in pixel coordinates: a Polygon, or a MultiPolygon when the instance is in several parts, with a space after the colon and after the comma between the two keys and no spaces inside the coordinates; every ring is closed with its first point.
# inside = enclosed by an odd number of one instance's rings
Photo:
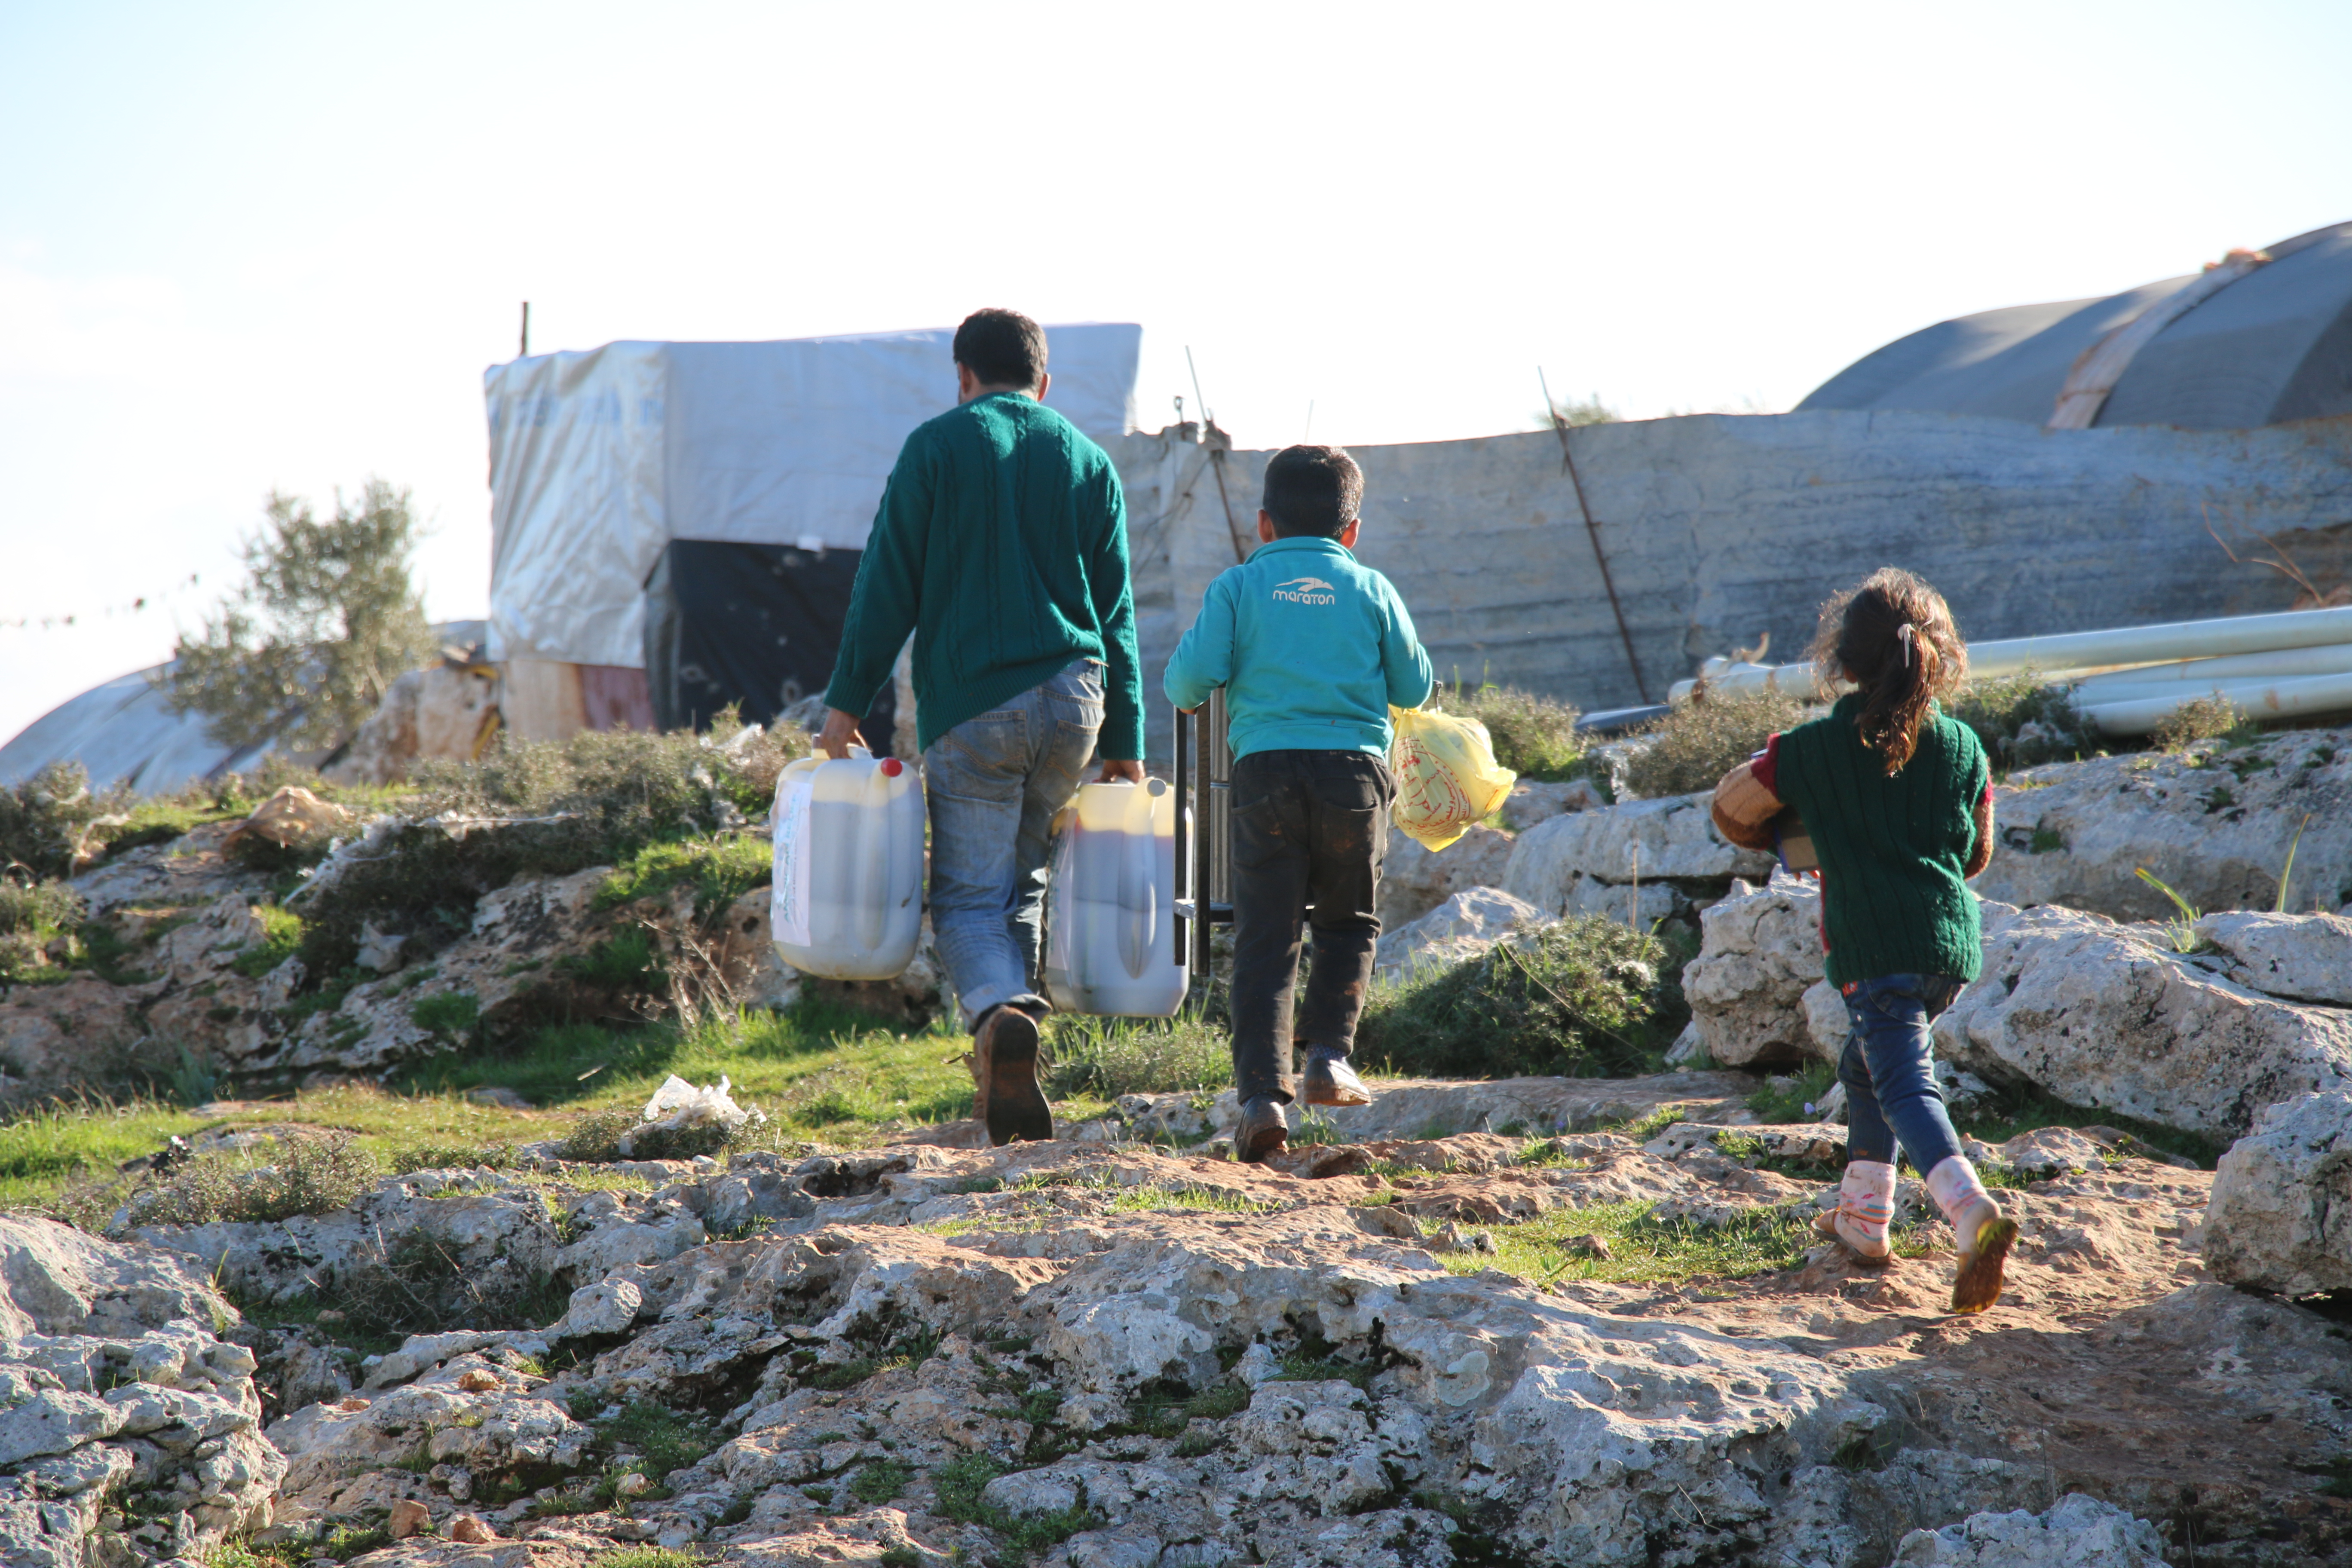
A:
{"type": "Polygon", "coordinates": [[[2352,743],[2343,731],[2027,769],[1994,790],[1992,811],[1997,844],[1976,891],[2002,903],[2169,919],[2171,900],[2136,875],[2145,865],[2199,910],[2270,910],[2288,846],[2291,910],[2352,903],[2352,743]]]}

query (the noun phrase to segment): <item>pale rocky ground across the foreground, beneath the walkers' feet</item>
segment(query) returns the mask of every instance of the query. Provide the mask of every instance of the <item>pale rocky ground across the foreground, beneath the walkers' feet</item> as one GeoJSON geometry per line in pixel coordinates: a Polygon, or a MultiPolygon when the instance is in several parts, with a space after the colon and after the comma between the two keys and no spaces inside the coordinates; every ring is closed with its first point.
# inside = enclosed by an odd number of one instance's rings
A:
{"type": "MultiPolygon", "coordinates": [[[[1731,1074],[1677,1077],[1705,1093],[1635,1100],[1736,1105],[1731,1074]]],[[[1592,1105],[1522,1084],[1562,1121],[1592,1105]]],[[[245,1528],[278,1561],[369,1568],[626,1544],[1073,1568],[2352,1554],[2328,1479],[2352,1340],[2209,1276],[2211,1173],[2105,1128],[1978,1150],[2023,1241],[2004,1302],[1955,1319],[1915,1185],[1886,1267],[1809,1244],[1835,1126],[1395,1135],[1491,1088],[1402,1088],[1359,1112],[1390,1135],[1279,1168],[1077,1138],[536,1159],[275,1225],[125,1218],[94,1241],[9,1220],[0,1547],[78,1563],[134,1530],[153,1561],[245,1528]],[[456,1326],[369,1349],[348,1324],[397,1237],[454,1262],[456,1326]],[[539,1316],[517,1316],[527,1286],[539,1316]]],[[[1129,1112],[1200,1114],[1169,1100],[1129,1112]]]]}

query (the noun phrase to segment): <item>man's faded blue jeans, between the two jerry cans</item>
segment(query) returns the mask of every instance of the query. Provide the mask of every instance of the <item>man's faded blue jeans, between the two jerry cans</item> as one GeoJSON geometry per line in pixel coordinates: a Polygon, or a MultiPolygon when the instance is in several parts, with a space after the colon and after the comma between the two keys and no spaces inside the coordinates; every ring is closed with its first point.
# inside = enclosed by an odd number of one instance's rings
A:
{"type": "Polygon", "coordinates": [[[1033,985],[1054,816],[1077,797],[1101,729],[1103,665],[1080,658],[922,755],[931,936],[967,1025],[1002,1001],[1047,1006],[1033,985]]]}

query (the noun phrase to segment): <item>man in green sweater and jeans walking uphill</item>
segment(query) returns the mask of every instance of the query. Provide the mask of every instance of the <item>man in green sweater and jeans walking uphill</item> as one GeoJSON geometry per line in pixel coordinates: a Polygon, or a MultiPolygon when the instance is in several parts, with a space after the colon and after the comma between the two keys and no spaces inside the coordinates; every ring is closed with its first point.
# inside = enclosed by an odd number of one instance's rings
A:
{"type": "Polygon", "coordinates": [[[957,407],[898,451],[858,562],[818,748],[863,745],[915,632],[931,806],[931,933],[971,1025],[995,1143],[1051,1138],[1033,987],[1047,837],[1087,762],[1143,780],[1127,498],[1101,447],[1044,407],[1044,331],[1014,310],[955,329],[957,407]]]}

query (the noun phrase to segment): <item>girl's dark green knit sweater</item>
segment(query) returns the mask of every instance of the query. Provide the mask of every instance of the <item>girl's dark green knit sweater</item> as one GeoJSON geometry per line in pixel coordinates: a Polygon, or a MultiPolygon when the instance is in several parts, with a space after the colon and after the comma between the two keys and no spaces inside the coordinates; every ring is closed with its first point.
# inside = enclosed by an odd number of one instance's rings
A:
{"type": "Polygon", "coordinates": [[[1919,750],[1893,778],[1863,745],[1860,693],[1780,736],[1773,795],[1797,809],[1820,856],[1830,983],[1877,976],[1973,980],[1985,966],[1976,893],[1976,802],[1990,764],[1976,733],[1929,708],[1919,750]]]}

